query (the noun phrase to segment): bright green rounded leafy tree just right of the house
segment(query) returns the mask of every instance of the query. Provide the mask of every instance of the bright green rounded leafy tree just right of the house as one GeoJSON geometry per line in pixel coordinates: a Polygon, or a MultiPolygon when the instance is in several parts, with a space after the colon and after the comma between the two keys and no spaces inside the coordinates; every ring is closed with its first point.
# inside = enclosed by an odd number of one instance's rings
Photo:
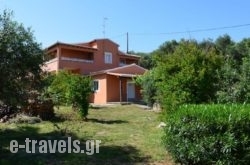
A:
{"type": "Polygon", "coordinates": [[[195,41],[181,41],[173,53],[157,60],[154,70],[162,106],[173,110],[182,103],[213,101],[220,63],[215,49],[205,51],[195,41]]]}

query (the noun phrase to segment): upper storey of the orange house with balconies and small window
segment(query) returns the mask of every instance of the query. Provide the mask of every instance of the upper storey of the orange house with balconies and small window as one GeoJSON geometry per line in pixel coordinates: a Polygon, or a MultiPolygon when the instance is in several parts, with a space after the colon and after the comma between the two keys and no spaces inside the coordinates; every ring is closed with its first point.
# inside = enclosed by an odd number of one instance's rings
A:
{"type": "Polygon", "coordinates": [[[56,42],[46,49],[44,70],[57,72],[71,70],[74,73],[89,74],[128,64],[138,64],[140,56],[119,51],[119,45],[109,39],[69,44],[56,42]]]}

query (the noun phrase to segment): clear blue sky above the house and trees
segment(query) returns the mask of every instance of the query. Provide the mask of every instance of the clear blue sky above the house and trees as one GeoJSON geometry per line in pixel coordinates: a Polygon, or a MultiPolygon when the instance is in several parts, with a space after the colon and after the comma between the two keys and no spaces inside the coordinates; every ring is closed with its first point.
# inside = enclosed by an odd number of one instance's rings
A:
{"type": "Polygon", "coordinates": [[[109,38],[119,49],[152,52],[166,41],[250,37],[249,0],[0,0],[0,13],[31,27],[46,48],[109,38]]]}

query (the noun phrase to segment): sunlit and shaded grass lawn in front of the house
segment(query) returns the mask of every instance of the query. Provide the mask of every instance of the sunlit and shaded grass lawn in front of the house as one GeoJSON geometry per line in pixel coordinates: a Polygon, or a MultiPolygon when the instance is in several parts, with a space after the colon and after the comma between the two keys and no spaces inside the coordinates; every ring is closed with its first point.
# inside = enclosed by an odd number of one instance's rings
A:
{"type": "Polygon", "coordinates": [[[91,108],[87,122],[69,107],[60,107],[53,121],[0,124],[0,164],[172,164],[161,144],[163,130],[157,128],[159,123],[156,112],[135,105],[91,108]],[[89,156],[9,151],[13,139],[24,144],[25,138],[60,140],[69,136],[82,144],[86,140],[101,140],[100,153],[89,156]]]}

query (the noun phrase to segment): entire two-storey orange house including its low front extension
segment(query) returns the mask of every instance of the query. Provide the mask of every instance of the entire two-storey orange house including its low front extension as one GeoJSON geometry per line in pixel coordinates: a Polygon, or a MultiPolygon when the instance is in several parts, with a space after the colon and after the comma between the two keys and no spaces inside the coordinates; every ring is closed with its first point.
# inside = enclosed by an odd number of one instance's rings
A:
{"type": "Polygon", "coordinates": [[[56,42],[46,49],[43,70],[91,75],[94,93],[90,101],[97,104],[107,102],[139,101],[140,88],[132,78],[145,69],[138,66],[140,56],[127,54],[109,39],[96,39],[85,43],[56,42]]]}

